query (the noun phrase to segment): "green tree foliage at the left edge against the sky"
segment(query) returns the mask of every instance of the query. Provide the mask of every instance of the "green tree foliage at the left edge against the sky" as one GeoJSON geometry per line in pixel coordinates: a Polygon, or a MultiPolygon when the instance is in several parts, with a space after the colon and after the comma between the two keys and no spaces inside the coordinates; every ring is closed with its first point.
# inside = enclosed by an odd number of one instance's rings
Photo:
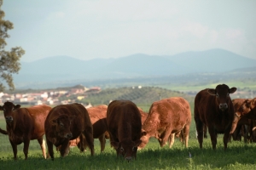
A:
{"type": "Polygon", "coordinates": [[[0,92],[9,87],[9,90],[14,90],[13,74],[20,71],[20,57],[25,54],[25,51],[20,48],[11,48],[9,51],[4,50],[7,43],[5,39],[9,37],[7,31],[14,28],[13,23],[9,20],[3,20],[4,12],[2,10],[3,0],[0,0],[0,92]]]}

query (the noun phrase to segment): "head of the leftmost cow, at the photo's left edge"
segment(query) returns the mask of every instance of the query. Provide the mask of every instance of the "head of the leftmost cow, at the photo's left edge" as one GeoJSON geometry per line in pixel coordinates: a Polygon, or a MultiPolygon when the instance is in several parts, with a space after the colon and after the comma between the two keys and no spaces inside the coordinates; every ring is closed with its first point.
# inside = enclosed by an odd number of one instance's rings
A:
{"type": "Polygon", "coordinates": [[[12,102],[5,102],[3,106],[0,105],[0,111],[3,111],[3,115],[5,117],[5,121],[7,123],[13,122],[14,116],[13,111],[18,110],[20,108],[20,105],[14,105],[12,102]]]}

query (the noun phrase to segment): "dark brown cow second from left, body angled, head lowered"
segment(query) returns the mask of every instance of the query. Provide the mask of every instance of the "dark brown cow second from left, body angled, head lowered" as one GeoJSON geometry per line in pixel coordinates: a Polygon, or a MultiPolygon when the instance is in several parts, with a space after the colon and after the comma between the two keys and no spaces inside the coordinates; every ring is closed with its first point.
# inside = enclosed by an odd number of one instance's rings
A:
{"type": "Polygon", "coordinates": [[[80,104],[57,105],[46,117],[44,122],[45,137],[49,156],[54,160],[53,144],[61,145],[61,156],[67,156],[69,141],[80,137],[81,151],[84,151],[85,141],[90,147],[90,155],[94,155],[92,125],[88,111],[80,104]]]}

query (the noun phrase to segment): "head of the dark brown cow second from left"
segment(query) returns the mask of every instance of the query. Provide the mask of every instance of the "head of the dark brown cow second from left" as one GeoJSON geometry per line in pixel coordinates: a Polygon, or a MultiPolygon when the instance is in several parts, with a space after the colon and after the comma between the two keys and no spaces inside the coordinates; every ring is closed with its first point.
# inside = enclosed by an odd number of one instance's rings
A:
{"type": "Polygon", "coordinates": [[[74,116],[61,115],[50,123],[56,127],[56,133],[61,138],[72,139],[73,134],[70,131],[74,116]]]}

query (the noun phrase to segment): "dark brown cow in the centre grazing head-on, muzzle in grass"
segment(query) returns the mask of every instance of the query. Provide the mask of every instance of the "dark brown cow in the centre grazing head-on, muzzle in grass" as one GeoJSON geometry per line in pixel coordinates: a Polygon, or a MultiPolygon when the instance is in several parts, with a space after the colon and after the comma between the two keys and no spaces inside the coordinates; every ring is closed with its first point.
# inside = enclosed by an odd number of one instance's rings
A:
{"type": "Polygon", "coordinates": [[[117,156],[125,160],[136,159],[137,146],[141,144],[142,121],[137,105],[129,100],[113,100],[108,105],[107,123],[110,144],[117,156]]]}

